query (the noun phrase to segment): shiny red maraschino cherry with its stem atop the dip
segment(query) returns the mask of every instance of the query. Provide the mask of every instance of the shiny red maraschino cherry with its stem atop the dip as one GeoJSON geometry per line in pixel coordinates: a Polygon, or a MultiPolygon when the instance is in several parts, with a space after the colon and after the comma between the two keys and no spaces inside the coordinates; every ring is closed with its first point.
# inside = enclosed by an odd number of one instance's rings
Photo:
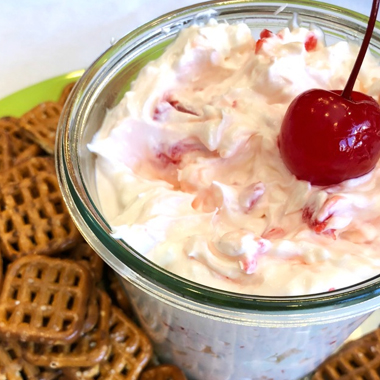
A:
{"type": "Polygon", "coordinates": [[[370,172],[380,158],[380,107],[352,91],[379,10],[374,0],[363,44],[343,91],[309,90],[290,104],[279,148],[288,169],[313,185],[328,186],[370,172]]]}

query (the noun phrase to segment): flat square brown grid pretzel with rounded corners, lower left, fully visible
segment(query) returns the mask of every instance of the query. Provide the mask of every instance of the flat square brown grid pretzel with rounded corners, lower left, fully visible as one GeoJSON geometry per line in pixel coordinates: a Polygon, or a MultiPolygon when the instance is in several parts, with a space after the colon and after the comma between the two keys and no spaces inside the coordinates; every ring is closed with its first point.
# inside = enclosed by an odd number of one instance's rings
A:
{"type": "Polygon", "coordinates": [[[91,275],[79,263],[23,257],[5,275],[0,334],[24,342],[71,343],[82,332],[91,290],[91,275]]]}

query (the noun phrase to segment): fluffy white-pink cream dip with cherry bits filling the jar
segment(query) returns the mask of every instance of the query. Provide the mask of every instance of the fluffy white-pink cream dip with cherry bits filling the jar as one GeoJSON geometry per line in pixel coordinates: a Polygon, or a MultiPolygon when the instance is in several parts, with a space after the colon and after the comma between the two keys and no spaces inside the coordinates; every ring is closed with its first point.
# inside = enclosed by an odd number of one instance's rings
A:
{"type": "MultiPolygon", "coordinates": [[[[317,28],[257,41],[244,23],[182,30],[89,145],[113,236],[177,275],[247,294],[325,292],[379,274],[379,165],[316,187],[277,146],[293,98],[342,89],[358,49],[326,46],[317,28]]],[[[378,99],[379,78],[367,54],[356,89],[378,99]]]]}

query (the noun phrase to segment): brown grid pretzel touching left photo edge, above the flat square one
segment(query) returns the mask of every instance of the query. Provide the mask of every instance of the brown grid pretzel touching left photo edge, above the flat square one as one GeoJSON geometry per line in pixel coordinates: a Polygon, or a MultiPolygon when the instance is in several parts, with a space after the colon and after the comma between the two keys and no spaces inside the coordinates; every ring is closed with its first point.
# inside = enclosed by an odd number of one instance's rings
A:
{"type": "Polygon", "coordinates": [[[82,238],[64,204],[54,160],[35,157],[0,176],[0,245],[15,260],[54,255],[82,238]]]}

